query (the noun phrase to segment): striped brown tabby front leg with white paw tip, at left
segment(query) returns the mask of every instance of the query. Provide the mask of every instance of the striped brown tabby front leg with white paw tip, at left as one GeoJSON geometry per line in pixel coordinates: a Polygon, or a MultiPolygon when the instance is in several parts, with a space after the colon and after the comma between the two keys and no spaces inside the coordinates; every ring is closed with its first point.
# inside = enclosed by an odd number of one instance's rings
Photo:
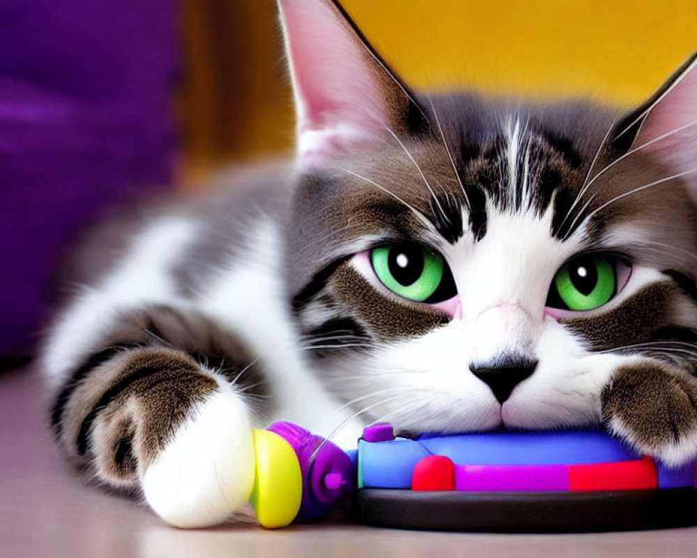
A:
{"type": "Polygon", "coordinates": [[[141,492],[171,525],[224,521],[254,483],[245,389],[259,370],[245,370],[252,359],[218,343],[222,332],[200,315],[146,308],[112,333],[117,341],[86,358],[56,398],[63,450],[101,483],[141,492]]]}

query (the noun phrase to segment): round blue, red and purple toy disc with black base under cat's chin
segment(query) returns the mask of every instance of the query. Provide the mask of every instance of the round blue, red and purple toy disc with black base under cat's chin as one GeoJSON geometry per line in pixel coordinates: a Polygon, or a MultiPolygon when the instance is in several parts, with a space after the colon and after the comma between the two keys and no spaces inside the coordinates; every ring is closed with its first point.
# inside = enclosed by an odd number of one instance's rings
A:
{"type": "Polygon", "coordinates": [[[670,469],[599,430],[358,442],[358,513],[372,525],[602,531],[697,524],[696,464],[670,469]]]}

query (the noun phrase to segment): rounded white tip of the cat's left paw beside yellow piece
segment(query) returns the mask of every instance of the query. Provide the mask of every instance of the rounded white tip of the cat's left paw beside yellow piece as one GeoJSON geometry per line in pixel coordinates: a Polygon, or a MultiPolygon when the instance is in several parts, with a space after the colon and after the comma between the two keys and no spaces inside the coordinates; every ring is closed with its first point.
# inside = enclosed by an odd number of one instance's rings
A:
{"type": "Polygon", "coordinates": [[[247,409],[228,386],[192,409],[141,477],[145,499],[175,527],[217,525],[250,499],[254,442],[247,409]]]}

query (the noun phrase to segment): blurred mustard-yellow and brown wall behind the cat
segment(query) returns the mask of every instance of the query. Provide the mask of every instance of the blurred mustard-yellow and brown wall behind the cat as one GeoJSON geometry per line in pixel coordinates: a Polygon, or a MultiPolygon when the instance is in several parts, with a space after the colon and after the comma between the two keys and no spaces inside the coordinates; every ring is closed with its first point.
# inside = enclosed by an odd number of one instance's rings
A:
{"type": "MultiPolygon", "coordinates": [[[[585,95],[631,106],[697,50],[697,0],[343,3],[414,89],[585,95]]],[[[185,0],[185,179],[291,149],[276,22],[273,0],[185,0]]]]}

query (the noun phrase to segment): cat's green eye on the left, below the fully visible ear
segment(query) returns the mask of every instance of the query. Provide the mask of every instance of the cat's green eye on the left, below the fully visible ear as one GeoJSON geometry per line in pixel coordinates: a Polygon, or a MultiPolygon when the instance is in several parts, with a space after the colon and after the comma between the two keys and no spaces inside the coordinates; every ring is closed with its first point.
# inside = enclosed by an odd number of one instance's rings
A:
{"type": "Polygon", "coordinates": [[[370,261],[383,285],[405,299],[436,303],[456,293],[443,256],[415,244],[374,248],[370,261]]]}

